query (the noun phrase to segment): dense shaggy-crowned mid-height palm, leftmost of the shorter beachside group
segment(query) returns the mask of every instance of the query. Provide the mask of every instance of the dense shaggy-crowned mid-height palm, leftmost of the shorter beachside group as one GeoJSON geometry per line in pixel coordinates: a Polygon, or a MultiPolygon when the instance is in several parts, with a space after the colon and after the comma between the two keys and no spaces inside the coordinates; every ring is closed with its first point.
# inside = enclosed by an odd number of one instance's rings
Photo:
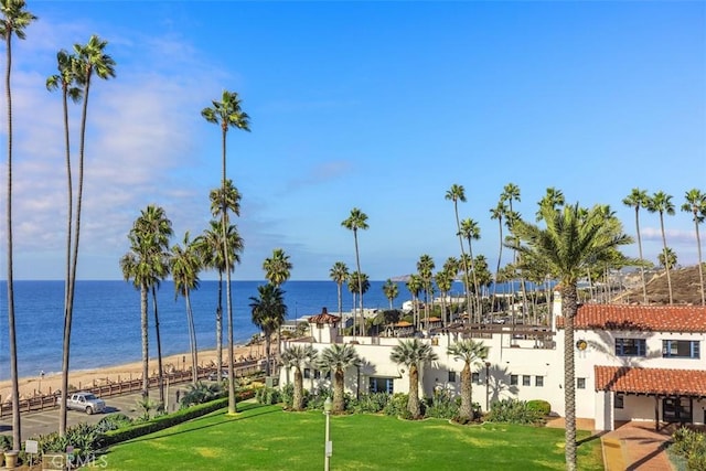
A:
{"type": "Polygon", "coordinates": [[[132,280],[140,290],[140,327],[142,333],[142,397],[149,395],[149,332],[148,293],[161,275],[168,258],[172,223],[164,210],[148,205],[132,224],[128,234],[130,250],[120,258],[120,269],[126,281],[132,280]]]}

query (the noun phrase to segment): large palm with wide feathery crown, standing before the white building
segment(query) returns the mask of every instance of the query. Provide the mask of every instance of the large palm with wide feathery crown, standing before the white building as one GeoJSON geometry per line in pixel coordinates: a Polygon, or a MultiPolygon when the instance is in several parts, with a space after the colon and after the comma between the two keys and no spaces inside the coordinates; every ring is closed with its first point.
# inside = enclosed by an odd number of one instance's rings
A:
{"type": "Polygon", "coordinates": [[[622,233],[620,222],[606,218],[595,206],[589,211],[578,204],[561,211],[545,210],[546,228],[517,220],[512,248],[522,257],[523,266],[539,264],[558,278],[564,317],[564,402],[566,407],[566,465],[576,470],[576,378],[574,364],[574,318],[578,310],[578,279],[586,269],[606,263],[621,245],[632,239],[622,233]],[[585,212],[585,215],[584,215],[585,212]]]}

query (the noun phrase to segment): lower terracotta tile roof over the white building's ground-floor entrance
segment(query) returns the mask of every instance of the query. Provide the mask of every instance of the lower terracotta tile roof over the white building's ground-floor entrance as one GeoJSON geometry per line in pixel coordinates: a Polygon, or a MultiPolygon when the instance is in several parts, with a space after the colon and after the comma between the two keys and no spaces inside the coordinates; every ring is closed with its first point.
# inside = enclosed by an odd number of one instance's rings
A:
{"type": "Polygon", "coordinates": [[[593,366],[596,390],[706,397],[706,371],[593,366]]]}

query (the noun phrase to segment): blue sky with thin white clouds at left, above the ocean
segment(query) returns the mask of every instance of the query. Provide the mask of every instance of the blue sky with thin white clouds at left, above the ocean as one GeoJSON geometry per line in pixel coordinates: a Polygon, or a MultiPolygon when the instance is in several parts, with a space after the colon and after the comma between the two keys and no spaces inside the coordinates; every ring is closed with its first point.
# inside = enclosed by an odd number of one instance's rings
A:
{"type": "MultiPolygon", "coordinates": [[[[459,216],[481,229],[473,253],[491,267],[500,234],[490,210],[507,183],[526,220],[553,186],[571,204],[610,205],[632,236],[634,211],[622,200],[633,188],[664,191],[677,210],[664,221],[667,245],[680,265],[697,261],[691,214],[678,210],[686,191],[706,191],[703,1],[29,0],[28,9],[39,20],[12,42],[15,279],[64,276],[62,105],[45,81],[56,52],[92,34],[108,41],[116,77],[95,81],[89,97],[79,279],[122,278],[127,234],[148,204],[164,208],[173,243],[207,227],[221,131],[201,110],[224,89],[250,116],[250,132],[227,137],[227,174],[243,195],[236,280],[264,279],[275,248],[289,255],[292,280],[327,280],[335,261],[355,270],[353,234],[341,225],[354,207],[368,216],[359,247],[370,279],[416,272],[424,254],[440,269],[460,250],[445,199],[452,184],[466,191],[459,216]]],[[[72,105],[74,154],[79,109],[72,105]]],[[[4,216],[4,190],[0,197],[4,216]]],[[[656,263],[660,218],[643,211],[640,226],[656,263]]],[[[0,236],[4,244],[4,223],[0,236]]],[[[637,244],[623,253],[637,257],[637,244]]]]}

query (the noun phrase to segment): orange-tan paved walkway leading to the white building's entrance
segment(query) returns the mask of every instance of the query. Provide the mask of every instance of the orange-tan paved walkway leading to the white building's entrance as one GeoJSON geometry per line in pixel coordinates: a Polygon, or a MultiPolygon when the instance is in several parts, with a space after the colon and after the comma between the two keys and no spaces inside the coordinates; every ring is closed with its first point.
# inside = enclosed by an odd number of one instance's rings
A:
{"type": "MultiPolygon", "coordinates": [[[[564,428],[564,418],[550,420],[547,427],[564,428]]],[[[591,430],[600,435],[603,449],[606,471],[670,471],[672,464],[664,451],[672,428],[654,430],[651,421],[630,421],[619,424],[618,428],[608,432],[593,430],[593,421],[577,419],[576,428],[591,430]]]]}

